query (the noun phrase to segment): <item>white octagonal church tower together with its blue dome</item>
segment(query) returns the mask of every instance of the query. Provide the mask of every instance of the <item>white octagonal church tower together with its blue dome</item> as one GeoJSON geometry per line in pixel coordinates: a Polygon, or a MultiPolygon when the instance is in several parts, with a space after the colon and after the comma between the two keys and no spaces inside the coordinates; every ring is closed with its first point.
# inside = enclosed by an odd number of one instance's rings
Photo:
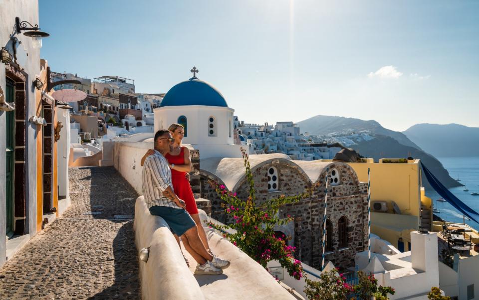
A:
{"type": "Polygon", "coordinates": [[[241,157],[233,139],[234,112],[218,89],[193,76],[172,87],[154,109],[155,132],[178,123],[185,127],[183,143],[200,150],[202,158],[241,157]]]}

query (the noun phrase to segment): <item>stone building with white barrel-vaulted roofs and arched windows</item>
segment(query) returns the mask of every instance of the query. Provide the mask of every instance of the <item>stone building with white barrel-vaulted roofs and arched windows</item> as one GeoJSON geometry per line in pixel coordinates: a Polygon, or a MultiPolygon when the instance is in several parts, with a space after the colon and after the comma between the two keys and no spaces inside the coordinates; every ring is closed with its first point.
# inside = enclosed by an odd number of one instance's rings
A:
{"type": "MultiPolygon", "coordinates": [[[[200,161],[201,196],[210,199],[211,215],[219,221],[229,222],[221,207],[222,200],[209,181],[224,184],[240,199],[246,199],[249,186],[243,163],[242,158],[200,161]]],[[[289,214],[294,221],[275,231],[290,236],[289,244],[297,248],[297,258],[315,268],[321,267],[325,176],[329,168],[326,260],[337,267],[354,266],[355,254],[367,249],[368,243],[367,183],[359,182],[351,166],[337,161],[291,160],[280,153],[250,155],[249,163],[257,201],[294,196],[312,189],[309,198],[280,209],[280,216],[289,214]]]]}

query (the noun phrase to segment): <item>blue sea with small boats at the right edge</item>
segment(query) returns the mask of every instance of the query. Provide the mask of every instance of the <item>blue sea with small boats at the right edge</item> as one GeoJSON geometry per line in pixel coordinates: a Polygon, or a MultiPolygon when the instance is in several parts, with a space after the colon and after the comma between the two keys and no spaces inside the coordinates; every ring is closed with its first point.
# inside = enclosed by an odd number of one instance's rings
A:
{"type": "MultiPolygon", "coordinates": [[[[443,166],[449,171],[449,175],[465,186],[450,188],[449,190],[469,207],[479,212],[479,196],[473,196],[471,193],[479,193],[479,156],[475,157],[436,157],[443,166]],[[464,188],[469,191],[464,191],[464,188]]],[[[424,177],[423,177],[424,180],[424,177]]],[[[463,214],[454,208],[448,202],[440,202],[437,199],[441,196],[433,189],[426,188],[426,196],[433,199],[434,207],[438,208],[440,213],[435,213],[443,220],[451,222],[463,222],[463,214]]],[[[479,230],[479,224],[472,220],[465,220],[467,224],[476,230],[479,230]]]]}

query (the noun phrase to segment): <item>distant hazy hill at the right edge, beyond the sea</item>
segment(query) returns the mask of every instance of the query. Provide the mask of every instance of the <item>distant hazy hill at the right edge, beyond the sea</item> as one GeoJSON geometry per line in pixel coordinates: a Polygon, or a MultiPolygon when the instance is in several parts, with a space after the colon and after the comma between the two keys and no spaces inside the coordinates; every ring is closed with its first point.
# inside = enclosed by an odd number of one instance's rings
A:
{"type": "Polygon", "coordinates": [[[404,131],[424,151],[438,157],[479,156],[479,128],[459,124],[416,124],[404,131]]]}

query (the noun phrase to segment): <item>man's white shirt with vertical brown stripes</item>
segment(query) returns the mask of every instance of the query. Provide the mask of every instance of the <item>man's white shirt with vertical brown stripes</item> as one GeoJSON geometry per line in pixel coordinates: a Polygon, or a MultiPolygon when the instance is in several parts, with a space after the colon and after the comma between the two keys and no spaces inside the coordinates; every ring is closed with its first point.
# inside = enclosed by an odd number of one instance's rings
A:
{"type": "Polygon", "coordinates": [[[163,192],[168,186],[173,191],[173,185],[168,161],[159,151],[155,150],[155,154],[149,155],[145,159],[141,184],[148,208],[154,205],[181,208],[173,200],[163,196],[163,192]]]}

